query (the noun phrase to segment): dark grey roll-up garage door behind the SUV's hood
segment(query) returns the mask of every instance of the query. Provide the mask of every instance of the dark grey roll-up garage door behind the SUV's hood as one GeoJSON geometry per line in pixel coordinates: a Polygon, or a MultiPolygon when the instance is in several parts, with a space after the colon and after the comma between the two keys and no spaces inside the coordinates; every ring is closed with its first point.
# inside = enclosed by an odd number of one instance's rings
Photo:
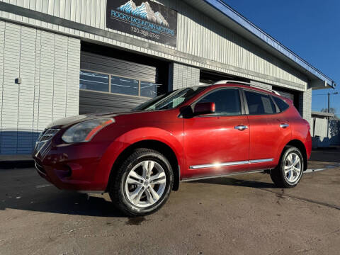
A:
{"type": "MultiPolygon", "coordinates": [[[[136,57],[138,57],[136,55],[136,57]]],[[[79,114],[96,113],[106,111],[129,111],[132,108],[144,103],[149,98],[141,92],[142,84],[148,82],[157,84],[158,69],[145,64],[138,64],[125,60],[96,55],[90,52],[81,52],[81,77],[82,74],[97,76],[99,91],[90,87],[80,86],[79,93],[79,114]],[[139,92],[131,96],[129,93],[111,91],[112,79],[122,81],[133,81],[138,86],[139,92]],[[108,84],[109,85],[108,85],[108,84]],[[108,89],[106,86],[108,85],[108,89]],[[102,90],[102,91],[100,91],[102,90]]],[[[81,79],[81,83],[84,79],[81,79]]],[[[86,83],[86,81],[84,81],[86,83]]],[[[124,86],[121,85],[123,88],[124,86]]],[[[134,87],[135,88],[135,87],[134,87]]],[[[124,88],[123,88],[124,89],[124,88]]],[[[150,96],[151,98],[152,96],[150,96]]]]}

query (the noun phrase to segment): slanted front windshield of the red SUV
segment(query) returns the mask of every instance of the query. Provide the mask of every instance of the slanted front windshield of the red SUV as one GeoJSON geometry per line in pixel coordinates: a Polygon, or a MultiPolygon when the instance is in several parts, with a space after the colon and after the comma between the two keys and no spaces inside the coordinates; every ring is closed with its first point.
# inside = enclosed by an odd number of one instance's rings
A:
{"type": "Polygon", "coordinates": [[[134,111],[156,111],[156,110],[169,110],[174,109],[188,101],[200,91],[203,91],[206,86],[195,86],[186,89],[178,89],[171,91],[156,98],[152,98],[149,101],[137,106],[134,111]]]}

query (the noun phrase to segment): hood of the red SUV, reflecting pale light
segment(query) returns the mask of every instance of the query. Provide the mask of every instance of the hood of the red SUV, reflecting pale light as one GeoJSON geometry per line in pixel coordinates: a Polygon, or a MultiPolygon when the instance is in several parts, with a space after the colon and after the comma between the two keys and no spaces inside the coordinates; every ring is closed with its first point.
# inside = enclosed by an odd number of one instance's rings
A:
{"type": "Polygon", "coordinates": [[[127,114],[137,114],[137,113],[145,113],[143,111],[128,111],[128,112],[101,112],[101,113],[89,113],[89,114],[82,114],[77,116],[72,116],[68,118],[62,118],[60,120],[56,120],[49,125],[47,125],[46,128],[67,128],[70,125],[74,125],[77,123],[81,123],[86,120],[93,120],[95,118],[101,118],[101,117],[117,117],[119,115],[127,115],[127,114]]]}

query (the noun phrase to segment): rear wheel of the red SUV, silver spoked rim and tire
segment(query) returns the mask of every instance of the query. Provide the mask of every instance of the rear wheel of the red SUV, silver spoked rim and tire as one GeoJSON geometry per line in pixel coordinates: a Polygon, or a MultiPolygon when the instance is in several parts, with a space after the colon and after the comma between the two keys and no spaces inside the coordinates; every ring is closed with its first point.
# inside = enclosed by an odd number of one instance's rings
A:
{"type": "Polygon", "coordinates": [[[280,162],[271,170],[271,180],[278,188],[293,188],[300,182],[305,162],[297,147],[286,146],[280,162]]]}

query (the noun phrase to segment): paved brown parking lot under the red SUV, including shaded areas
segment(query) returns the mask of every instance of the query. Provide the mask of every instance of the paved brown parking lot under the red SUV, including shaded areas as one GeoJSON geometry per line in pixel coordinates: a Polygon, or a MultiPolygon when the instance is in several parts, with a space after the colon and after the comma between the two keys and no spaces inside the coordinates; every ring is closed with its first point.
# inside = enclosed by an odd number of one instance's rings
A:
{"type": "Polygon", "coordinates": [[[120,215],[108,195],[0,170],[0,254],[339,254],[340,153],[313,152],[296,188],[267,174],[181,183],[159,212],[120,215]]]}

